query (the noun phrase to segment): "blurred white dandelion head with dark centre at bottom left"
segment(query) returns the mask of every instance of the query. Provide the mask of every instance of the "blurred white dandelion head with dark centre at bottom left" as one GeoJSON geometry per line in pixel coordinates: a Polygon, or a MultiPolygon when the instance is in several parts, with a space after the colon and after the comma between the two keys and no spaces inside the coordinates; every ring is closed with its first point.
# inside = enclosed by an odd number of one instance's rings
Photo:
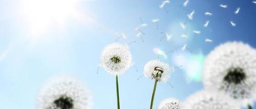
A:
{"type": "Polygon", "coordinates": [[[38,109],[90,109],[92,97],[75,77],[56,76],[41,88],[38,109]]]}

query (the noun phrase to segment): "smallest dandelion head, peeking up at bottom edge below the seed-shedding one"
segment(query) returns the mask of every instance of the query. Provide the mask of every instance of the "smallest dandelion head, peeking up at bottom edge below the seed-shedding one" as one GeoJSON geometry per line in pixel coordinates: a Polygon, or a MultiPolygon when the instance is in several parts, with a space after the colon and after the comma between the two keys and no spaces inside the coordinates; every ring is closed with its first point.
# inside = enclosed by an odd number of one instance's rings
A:
{"type": "Polygon", "coordinates": [[[181,102],[175,98],[164,99],[158,105],[158,109],[181,109],[181,102]]]}

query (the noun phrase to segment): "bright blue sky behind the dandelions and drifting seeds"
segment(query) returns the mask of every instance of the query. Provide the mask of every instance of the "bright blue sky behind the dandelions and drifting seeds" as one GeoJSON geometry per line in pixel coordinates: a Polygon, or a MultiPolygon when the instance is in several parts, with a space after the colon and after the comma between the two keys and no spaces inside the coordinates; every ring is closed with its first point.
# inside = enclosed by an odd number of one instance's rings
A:
{"type": "MultiPolygon", "coordinates": [[[[115,43],[129,45],[133,62],[119,77],[121,108],[148,108],[153,82],[142,77],[143,66],[148,60],[157,59],[154,48],[170,52],[163,62],[177,68],[169,83],[159,83],[154,107],[165,98],[185,100],[187,96],[203,88],[201,69],[204,57],[221,43],[243,41],[256,47],[256,4],[251,0],[171,0],[160,9],[160,0],[102,1],[75,0],[70,2],[40,0],[0,0],[0,102],[2,108],[35,108],[38,88],[44,80],[57,74],[72,74],[81,78],[93,95],[94,108],[116,108],[115,77],[100,64],[104,46],[115,43]],[[219,4],[227,4],[226,9],[219,4]],[[240,13],[234,14],[240,7],[240,13]],[[189,21],[187,14],[194,10],[194,18],[186,24],[188,38],[180,35],[180,22],[189,21]],[[205,11],[213,16],[205,16],[205,11]],[[141,30],[144,42],[136,37],[135,28],[141,20],[147,27],[141,30]],[[159,29],[151,20],[158,18],[159,29]],[[209,26],[203,27],[209,20],[209,26]],[[237,25],[232,27],[230,21],[237,25]],[[195,36],[194,30],[201,31],[195,36]],[[172,35],[168,40],[161,32],[172,35]],[[205,39],[212,39],[206,43],[205,39]],[[182,51],[184,44],[193,51],[182,51]],[[196,65],[196,66],[194,66],[196,65]]],[[[255,107],[256,108],[256,107],[255,107]]]]}

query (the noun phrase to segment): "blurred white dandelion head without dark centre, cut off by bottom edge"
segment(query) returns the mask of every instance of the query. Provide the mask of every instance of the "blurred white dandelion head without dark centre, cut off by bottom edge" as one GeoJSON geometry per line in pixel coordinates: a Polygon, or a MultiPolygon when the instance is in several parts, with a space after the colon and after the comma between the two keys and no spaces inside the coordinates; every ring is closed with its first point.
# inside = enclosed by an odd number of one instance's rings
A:
{"type": "Polygon", "coordinates": [[[187,98],[186,109],[240,109],[239,106],[223,93],[201,90],[187,98]]]}

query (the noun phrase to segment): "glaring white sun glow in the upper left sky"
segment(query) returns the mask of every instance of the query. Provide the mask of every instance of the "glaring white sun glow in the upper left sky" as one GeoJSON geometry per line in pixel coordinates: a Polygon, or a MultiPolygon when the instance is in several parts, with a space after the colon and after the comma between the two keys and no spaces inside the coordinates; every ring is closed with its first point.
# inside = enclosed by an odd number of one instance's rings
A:
{"type": "Polygon", "coordinates": [[[77,9],[80,0],[23,0],[21,1],[21,19],[23,19],[32,35],[39,35],[49,27],[64,27],[65,20],[79,19],[77,9]]]}

